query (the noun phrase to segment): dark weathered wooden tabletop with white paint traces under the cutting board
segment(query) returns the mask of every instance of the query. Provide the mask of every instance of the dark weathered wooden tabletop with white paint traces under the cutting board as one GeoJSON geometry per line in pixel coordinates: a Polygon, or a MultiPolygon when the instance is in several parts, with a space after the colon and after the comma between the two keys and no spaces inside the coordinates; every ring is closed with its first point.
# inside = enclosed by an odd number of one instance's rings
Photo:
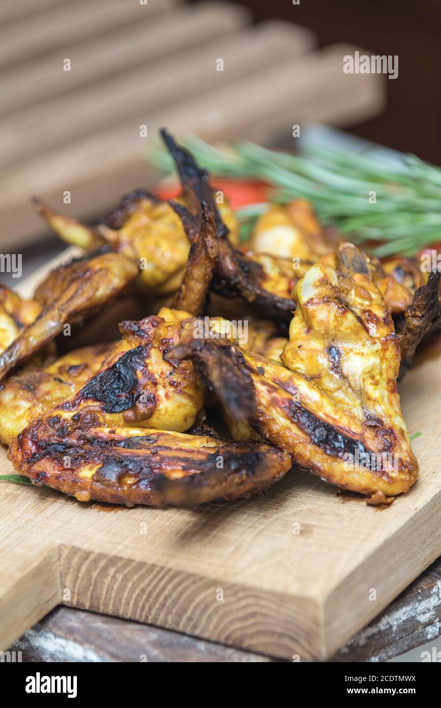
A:
{"type": "MultiPolygon", "coordinates": [[[[358,632],[333,662],[387,661],[441,636],[441,558],[358,632]]],[[[274,661],[127,619],[57,607],[18,639],[23,661],[274,661]],[[145,657],[145,659],[144,659],[145,657]]]]}

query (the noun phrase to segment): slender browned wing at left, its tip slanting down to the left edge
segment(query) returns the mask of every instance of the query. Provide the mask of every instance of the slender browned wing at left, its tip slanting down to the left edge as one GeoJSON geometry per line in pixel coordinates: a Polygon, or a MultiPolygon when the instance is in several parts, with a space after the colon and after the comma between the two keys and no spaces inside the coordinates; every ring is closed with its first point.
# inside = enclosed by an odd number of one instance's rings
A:
{"type": "Polygon", "coordinates": [[[0,381],[54,339],[66,323],[77,324],[96,314],[136,278],[137,266],[120,253],[84,256],[50,273],[35,291],[41,308],[0,355],[0,381]]]}

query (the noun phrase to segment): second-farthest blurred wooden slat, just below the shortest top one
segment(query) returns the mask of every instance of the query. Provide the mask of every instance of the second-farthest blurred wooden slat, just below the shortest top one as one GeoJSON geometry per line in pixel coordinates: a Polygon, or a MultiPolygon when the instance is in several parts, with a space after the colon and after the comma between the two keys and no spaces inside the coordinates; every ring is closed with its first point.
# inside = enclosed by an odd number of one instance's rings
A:
{"type": "MultiPolygon", "coordinates": [[[[104,36],[86,45],[63,47],[48,57],[3,72],[0,115],[38,105],[93,81],[121,74],[130,67],[176,55],[237,30],[248,18],[249,13],[240,6],[204,2],[176,8],[158,18],[143,17],[136,25],[122,28],[118,35],[104,36]],[[71,72],[62,71],[65,57],[71,59],[71,72]]],[[[312,39],[307,30],[299,32],[299,47],[307,48],[307,38],[312,39]]]]}

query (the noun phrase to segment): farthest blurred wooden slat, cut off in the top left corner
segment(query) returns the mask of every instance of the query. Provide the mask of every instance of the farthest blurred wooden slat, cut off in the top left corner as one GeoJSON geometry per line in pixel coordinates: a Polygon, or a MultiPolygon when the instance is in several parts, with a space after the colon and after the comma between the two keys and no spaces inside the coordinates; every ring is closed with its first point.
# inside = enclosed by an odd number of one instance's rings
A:
{"type": "Polygon", "coordinates": [[[0,68],[25,62],[105,32],[153,17],[179,0],[149,0],[147,5],[126,0],[75,0],[0,30],[0,68]]]}

